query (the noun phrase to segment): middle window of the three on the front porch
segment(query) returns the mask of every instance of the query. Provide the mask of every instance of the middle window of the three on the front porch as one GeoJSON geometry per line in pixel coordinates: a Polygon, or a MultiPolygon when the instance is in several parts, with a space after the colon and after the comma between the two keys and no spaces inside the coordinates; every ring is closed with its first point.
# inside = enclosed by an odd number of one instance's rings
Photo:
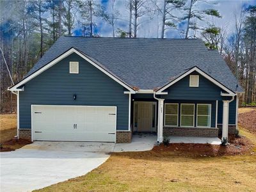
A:
{"type": "Polygon", "coordinates": [[[195,104],[181,104],[180,106],[180,127],[194,127],[195,104]]]}

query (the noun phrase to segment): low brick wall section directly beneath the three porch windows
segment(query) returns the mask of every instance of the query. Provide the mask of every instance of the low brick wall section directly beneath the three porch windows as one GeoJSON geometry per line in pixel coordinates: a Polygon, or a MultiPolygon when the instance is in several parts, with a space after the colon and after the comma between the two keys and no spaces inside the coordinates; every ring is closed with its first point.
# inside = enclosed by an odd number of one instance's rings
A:
{"type": "Polygon", "coordinates": [[[163,127],[163,136],[186,136],[186,137],[218,137],[219,129],[215,127],[163,127]]]}

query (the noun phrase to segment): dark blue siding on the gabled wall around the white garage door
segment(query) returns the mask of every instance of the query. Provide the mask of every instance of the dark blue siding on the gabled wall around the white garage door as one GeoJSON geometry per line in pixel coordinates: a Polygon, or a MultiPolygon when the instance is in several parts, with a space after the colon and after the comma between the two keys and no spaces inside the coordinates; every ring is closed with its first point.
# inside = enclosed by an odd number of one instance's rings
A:
{"type": "Polygon", "coordinates": [[[20,92],[20,128],[31,128],[31,104],[117,106],[117,129],[128,129],[129,96],[124,87],[77,54],[26,83],[20,92]],[[69,61],[79,61],[79,74],[69,74],[69,61]]]}

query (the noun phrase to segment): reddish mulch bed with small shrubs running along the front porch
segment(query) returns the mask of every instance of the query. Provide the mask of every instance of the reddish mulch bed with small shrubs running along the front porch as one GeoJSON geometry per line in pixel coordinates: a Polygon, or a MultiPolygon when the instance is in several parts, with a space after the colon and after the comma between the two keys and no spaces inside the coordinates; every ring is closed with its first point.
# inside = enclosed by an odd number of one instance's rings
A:
{"type": "Polygon", "coordinates": [[[211,144],[170,143],[168,146],[163,144],[155,146],[152,150],[155,152],[176,152],[180,156],[216,157],[243,154],[253,155],[252,148],[252,142],[242,136],[241,138],[234,138],[227,147],[211,144]]]}

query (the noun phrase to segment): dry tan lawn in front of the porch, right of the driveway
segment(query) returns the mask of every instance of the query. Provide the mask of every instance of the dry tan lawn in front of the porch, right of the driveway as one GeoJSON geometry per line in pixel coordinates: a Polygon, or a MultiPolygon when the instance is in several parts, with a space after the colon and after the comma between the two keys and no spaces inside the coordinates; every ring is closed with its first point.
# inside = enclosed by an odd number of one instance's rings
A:
{"type": "MultiPolygon", "coordinates": [[[[240,132],[256,145],[255,134],[242,127],[240,132]]],[[[155,150],[115,153],[84,176],[38,191],[255,191],[255,152],[219,157],[155,150]]]]}

